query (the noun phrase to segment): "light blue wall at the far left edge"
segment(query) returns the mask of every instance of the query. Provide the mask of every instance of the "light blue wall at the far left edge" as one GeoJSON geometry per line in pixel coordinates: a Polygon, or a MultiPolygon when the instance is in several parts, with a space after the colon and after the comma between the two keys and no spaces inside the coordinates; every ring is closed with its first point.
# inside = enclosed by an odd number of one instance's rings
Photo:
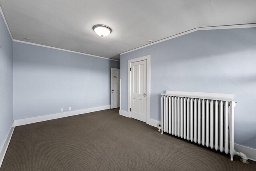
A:
{"type": "Polygon", "coordinates": [[[12,39],[0,15],[0,149],[13,122],[12,39]]]}

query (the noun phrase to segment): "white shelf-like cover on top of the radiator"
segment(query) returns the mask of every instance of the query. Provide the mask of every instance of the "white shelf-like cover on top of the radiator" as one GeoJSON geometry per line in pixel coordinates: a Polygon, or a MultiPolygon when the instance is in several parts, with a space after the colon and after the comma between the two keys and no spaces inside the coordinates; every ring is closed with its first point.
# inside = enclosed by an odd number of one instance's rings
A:
{"type": "Polygon", "coordinates": [[[224,93],[202,93],[202,92],[190,92],[190,91],[166,91],[161,95],[178,96],[178,97],[190,97],[198,99],[211,99],[211,100],[223,100],[232,101],[233,94],[224,93]]]}

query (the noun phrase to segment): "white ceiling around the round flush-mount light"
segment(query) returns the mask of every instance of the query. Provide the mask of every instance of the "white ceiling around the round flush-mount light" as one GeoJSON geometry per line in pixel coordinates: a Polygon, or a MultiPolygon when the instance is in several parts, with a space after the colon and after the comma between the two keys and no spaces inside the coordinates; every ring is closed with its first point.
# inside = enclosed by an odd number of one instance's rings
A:
{"type": "Polygon", "coordinates": [[[198,27],[256,23],[256,0],[0,0],[16,40],[120,59],[198,27]],[[105,24],[104,38],[92,30],[105,24]]]}

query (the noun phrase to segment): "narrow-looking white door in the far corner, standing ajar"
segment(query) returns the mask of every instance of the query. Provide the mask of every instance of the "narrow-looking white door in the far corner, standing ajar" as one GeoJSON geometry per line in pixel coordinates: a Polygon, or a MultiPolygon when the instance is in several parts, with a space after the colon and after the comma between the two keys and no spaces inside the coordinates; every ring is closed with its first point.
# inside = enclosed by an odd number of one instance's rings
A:
{"type": "Polygon", "coordinates": [[[111,109],[119,107],[119,89],[120,69],[111,68],[111,109]]]}

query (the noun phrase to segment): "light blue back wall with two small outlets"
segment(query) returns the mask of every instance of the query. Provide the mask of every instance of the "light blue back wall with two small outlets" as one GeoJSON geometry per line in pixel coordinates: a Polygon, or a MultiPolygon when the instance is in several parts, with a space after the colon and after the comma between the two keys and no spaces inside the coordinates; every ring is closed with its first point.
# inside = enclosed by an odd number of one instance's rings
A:
{"type": "Polygon", "coordinates": [[[14,119],[110,105],[110,68],[120,62],[14,42],[14,119]]]}

